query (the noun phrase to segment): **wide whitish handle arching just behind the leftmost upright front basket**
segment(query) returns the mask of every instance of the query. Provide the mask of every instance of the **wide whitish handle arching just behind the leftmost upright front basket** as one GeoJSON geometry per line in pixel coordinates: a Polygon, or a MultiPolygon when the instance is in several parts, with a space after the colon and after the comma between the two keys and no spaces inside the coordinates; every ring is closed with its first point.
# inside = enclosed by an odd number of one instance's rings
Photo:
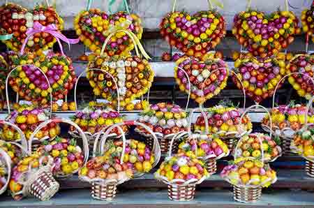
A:
{"type": "MultiPolygon", "coordinates": [[[[148,131],[151,134],[151,136],[154,139],[154,144],[153,144],[153,149],[152,149],[152,151],[154,151],[154,154],[155,154],[155,161],[154,161],[154,164],[152,165],[152,167],[154,168],[158,164],[158,162],[160,160],[160,156],[161,156],[161,151],[160,151],[160,146],[159,146],[158,139],[157,139],[156,134],[154,133],[154,131],[151,130],[151,128],[149,128],[147,125],[142,124],[142,123],[137,122],[137,121],[124,121],[123,123],[114,124],[114,125],[110,126],[109,128],[107,128],[107,131],[105,131],[105,133],[104,133],[104,137],[100,141],[100,154],[104,154],[105,153],[105,140],[107,139],[107,135],[109,135],[110,132],[115,127],[117,127],[117,126],[120,127],[122,125],[142,126],[142,128],[145,128],[145,130],[148,131]]],[[[124,139],[125,139],[125,134],[123,134],[123,135],[124,135],[124,139]]],[[[125,151],[125,147],[124,147],[124,151],[125,151]]],[[[124,151],[123,151],[123,155],[124,155],[124,151]]],[[[123,161],[123,157],[122,156],[121,156],[121,158],[122,158],[121,161],[123,161]]]]}

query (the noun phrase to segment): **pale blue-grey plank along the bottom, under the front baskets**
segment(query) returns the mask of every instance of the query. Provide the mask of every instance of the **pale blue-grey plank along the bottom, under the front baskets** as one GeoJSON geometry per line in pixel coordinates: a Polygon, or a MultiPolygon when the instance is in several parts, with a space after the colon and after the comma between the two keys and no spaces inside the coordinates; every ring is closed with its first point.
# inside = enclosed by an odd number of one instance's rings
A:
{"type": "Polygon", "coordinates": [[[234,202],[232,192],[223,190],[197,191],[195,199],[190,202],[174,202],[167,198],[167,191],[125,191],[118,188],[119,193],[112,202],[93,200],[89,190],[61,191],[50,201],[40,202],[34,198],[13,201],[12,198],[1,197],[0,207],[313,207],[313,193],[306,191],[268,191],[264,190],[259,202],[243,204],[234,202]],[[297,196],[297,197],[296,197],[297,196]]]}

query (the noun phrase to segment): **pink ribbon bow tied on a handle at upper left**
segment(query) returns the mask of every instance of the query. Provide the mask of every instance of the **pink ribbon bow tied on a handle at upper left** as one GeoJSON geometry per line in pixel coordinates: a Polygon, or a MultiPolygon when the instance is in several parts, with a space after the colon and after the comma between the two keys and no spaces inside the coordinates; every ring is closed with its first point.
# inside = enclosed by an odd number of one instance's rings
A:
{"type": "Polygon", "coordinates": [[[60,42],[60,39],[63,40],[64,42],[68,43],[68,47],[70,47],[70,44],[76,44],[80,41],[79,38],[76,38],[76,39],[66,38],[66,36],[64,36],[63,34],[61,34],[58,31],[58,28],[56,27],[55,24],[48,24],[47,26],[43,26],[43,24],[40,24],[39,22],[34,22],[33,27],[27,29],[27,32],[26,32],[27,38],[25,38],[25,40],[24,40],[20,54],[24,53],[24,48],[25,48],[29,38],[31,38],[31,36],[33,36],[34,34],[37,34],[40,32],[45,32],[47,34],[51,34],[52,36],[54,36],[54,38],[56,38],[57,42],[59,43],[61,54],[63,54],[63,55],[64,55],[63,47],[62,47],[62,44],[60,42]]]}

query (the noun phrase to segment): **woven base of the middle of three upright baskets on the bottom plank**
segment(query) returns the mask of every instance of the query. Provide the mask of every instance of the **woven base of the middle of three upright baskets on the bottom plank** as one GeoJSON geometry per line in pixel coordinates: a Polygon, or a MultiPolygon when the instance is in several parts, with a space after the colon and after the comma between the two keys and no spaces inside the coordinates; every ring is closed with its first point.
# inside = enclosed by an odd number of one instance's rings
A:
{"type": "Polygon", "coordinates": [[[168,198],[174,201],[190,201],[194,199],[195,185],[168,185],[168,198]]]}

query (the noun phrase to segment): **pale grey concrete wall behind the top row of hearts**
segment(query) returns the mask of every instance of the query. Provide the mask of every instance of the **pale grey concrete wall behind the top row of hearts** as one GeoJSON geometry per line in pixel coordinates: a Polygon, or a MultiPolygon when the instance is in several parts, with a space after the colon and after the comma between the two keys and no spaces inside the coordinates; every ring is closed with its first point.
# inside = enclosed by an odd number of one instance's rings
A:
{"type": "MultiPolygon", "coordinates": [[[[19,3],[27,8],[31,8],[36,3],[41,0],[12,0],[14,3],[19,3]]],[[[87,6],[87,0],[49,0],[50,3],[56,3],[57,10],[60,15],[64,17],[66,22],[66,29],[73,28],[73,17],[83,10],[87,6]]],[[[224,8],[218,10],[227,20],[227,28],[232,27],[232,19],[236,13],[241,10],[245,10],[246,1],[245,0],[220,0],[224,4],[224,8]]],[[[311,0],[289,0],[290,4],[295,8],[290,8],[296,15],[301,15],[301,10],[304,6],[311,4],[311,0]]],[[[117,0],[119,4],[121,0],[117,0]]],[[[133,13],[140,15],[143,20],[143,26],[146,29],[156,30],[161,18],[168,12],[172,10],[172,0],[128,0],[130,10],[133,13]]],[[[5,3],[1,0],[0,3],[5,3]]],[[[114,5],[117,8],[117,4],[114,5]]],[[[108,10],[107,0],[94,0],[92,6],[96,8],[101,8],[102,10],[108,10]]],[[[277,8],[284,9],[284,0],[253,0],[252,7],[259,8],[260,10],[271,11],[277,8]]],[[[177,10],[186,10],[190,13],[195,13],[198,10],[207,10],[208,3],[207,0],[177,0],[177,10]]]]}

